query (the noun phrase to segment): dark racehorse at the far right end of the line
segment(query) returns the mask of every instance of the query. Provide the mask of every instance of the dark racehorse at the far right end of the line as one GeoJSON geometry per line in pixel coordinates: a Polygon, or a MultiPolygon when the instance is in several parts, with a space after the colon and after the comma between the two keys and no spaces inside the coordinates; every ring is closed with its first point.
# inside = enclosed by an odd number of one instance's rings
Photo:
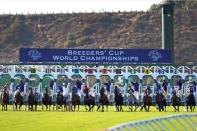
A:
{"type": "Polygon", "coordinates": [[[195,100],[195,96],[193,93],[190,93],[187,98],[186,98],[186,106],[187,106],[187,112],[188,112],[188,108],[190,107],[190,111],[193,112],[195,110],[195,106],[196,106],[196,100],[195,100]]]}

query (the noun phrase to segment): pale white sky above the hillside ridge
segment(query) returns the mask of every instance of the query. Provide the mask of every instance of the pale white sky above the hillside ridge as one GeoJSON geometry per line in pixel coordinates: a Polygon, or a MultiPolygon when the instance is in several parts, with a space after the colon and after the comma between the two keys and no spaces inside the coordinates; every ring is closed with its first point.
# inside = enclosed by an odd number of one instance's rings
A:
{"type": "Polygon", "coordinates": [[[0,0],[0,14],[147,11],[160,0],[0,0]]]}

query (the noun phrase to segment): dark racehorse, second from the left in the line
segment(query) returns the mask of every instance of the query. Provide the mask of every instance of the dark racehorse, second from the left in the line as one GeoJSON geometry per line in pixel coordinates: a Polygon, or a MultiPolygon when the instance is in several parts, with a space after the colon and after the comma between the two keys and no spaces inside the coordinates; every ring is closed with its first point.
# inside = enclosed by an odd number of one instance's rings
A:
{"type": "Polygon", "coordinates": [[[15,91],[14,93],[14,105],[15,105],[15,110],[18,109],[18,105],[19,105],[19,111],[20,111],[21,106],[23,105],[23,96],[21,95],[20,91],[15,91]]]}

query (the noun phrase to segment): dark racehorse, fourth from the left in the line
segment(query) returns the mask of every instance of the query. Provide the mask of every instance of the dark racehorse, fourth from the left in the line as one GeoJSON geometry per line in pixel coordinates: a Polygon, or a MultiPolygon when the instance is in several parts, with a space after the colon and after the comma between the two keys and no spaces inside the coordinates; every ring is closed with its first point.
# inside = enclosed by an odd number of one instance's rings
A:
{"type": "Polygon", "coordinates": [[[45,105],[46,110],[49,109],[50,111],[50,107],[52,105],[52,96],[49,95],[47,88],[45,90],[46,92],[43,93],[43,98],[42,98],[42,109],[44,109],[43,105],[45,105]]]}

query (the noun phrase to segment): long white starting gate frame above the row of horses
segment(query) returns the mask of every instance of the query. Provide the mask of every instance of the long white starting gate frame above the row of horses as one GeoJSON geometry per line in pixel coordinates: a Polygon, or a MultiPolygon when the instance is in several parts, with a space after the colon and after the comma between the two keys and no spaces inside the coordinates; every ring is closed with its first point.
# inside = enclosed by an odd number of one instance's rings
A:
{"type": "MultiPolygon", "coordinates": [[[[51,76],[54,79],[53,91],[56,93],[58,76],[67,77],[67,87],[72,85],[72,76],[81,76],[83,85],[86,83],[87,76],[95,76],[96,83],[93,85],[96,93],[99,93],[99,89],[102,86],[100,82],[101,76],[109,76],[111,79],[110,93],[113,93],[114,79],[116,76],[123,76],[125,84],[123,93],[126,93],[128,86],[128,79],[131,76],[137,76],[139,78],[139,93],[143,92],[143,79],[150,77],[152,80],[156,80],[158,77],[164,76],[168,81],[168,93],[172,86],[176,87],[172,78],[180,77],[183,80],[192,77],[194,81],[197,80],[197,66],[196,65],[0,65],[0,80],[3,75],[10,76],[10,91],[14,91],[14,79],[16,76],[23,75],[25,78],[25,92],[27,92],[28,80],[30,76],[37,75],[39,77],[39,84],[37,88],[41,92],[43,87],[43,78],[45,76],[51,76]]],[[[2,82],[2,81],[1,81],[2,82]]],[[[0,83],[1,86],[2,83],[0,83]]],[[[47,85],[48,86],[48,85],[47,85]]],[[[153,82],[151,87],[155,89],[155,83],[153,82]]],[[[1,88],[1,87],[0,87],[1,88]]],[[[182,94],[187,92],[186,82],[182,86],[182,94]]],[[[196,93],[197,94],[197,93],[196,93]]]]}

